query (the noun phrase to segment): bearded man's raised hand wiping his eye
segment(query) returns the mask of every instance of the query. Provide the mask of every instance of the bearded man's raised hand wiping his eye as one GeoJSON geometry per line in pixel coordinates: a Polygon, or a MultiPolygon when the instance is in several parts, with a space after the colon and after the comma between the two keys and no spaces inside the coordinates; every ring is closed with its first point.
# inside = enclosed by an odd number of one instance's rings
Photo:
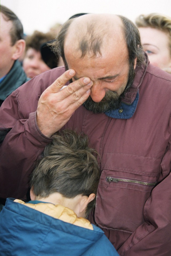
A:
{"type": "Polygon", "coordinates": [[[40,131],[47,137],[59,131],[90,95],[93,82],[88,77],[79,78],[61,90],[74,75],[73,69],[67,70],[40,96],[37,106],[37,124],[40,131]]]}

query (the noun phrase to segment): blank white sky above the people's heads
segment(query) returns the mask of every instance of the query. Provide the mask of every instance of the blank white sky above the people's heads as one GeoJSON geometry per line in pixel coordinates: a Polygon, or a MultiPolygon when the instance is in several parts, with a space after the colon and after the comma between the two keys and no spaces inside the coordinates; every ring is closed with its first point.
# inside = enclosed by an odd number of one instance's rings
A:
{"type": "Polygon", "coordinates": [[[113,13],[133,22],[139,14],[157,12],[171,17],[171,0],[0,0],[21,20],[24,32],[48,32],[76,13],[113,13]]]}

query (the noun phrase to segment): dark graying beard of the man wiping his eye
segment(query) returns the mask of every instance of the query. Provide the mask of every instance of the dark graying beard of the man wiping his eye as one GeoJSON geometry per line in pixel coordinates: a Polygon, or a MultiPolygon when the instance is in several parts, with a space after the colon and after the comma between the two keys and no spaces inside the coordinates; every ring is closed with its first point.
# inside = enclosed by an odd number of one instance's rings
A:
{"type": "Polygon", "coordinates": [[[100,102],[94,102],[89,96],[88,99],[83,103],[83,106],[94,113],[104,113],[110,110],[118,109],[121,105],[121,98],[124,97],[126,91],[131,87],[135,77],[134,67],[129,69],[128,82],[125,90],[121,95],[118,95],[115,91],[106,91],[104,98],[100,102]]]}

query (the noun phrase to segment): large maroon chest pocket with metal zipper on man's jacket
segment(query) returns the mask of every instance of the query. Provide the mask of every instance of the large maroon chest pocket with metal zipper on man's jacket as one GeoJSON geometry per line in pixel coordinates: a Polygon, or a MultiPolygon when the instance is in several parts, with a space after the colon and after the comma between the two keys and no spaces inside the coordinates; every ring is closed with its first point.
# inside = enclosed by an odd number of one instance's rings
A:
{"type": "Polygon", "coordinates": [[[133,232],[143,222],[143,208],[155,177],[103,170],[96,198],[95,221],[101,228],[133,232]]]}

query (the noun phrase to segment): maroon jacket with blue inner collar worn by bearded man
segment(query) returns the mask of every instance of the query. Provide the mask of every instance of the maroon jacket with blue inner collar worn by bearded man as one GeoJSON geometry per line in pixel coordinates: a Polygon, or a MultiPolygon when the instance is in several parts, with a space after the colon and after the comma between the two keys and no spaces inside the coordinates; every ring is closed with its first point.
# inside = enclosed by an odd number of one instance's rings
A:
{"type": "MultiPolygon", "coordinates": [[[[37,102],[63,72],[56,68],[33,78],[1,106],[1,127],[12,129],[0,148],[0,197],[25,195],[32,165],[51,141],[37,127],[37,102]]],[[[151,65],[137,68],[121,109],[94,114],[81,106],[65,125],[85,132],[100,154],[90,218],[120,255],[170,256],[171,75],[151,65]]]]}

